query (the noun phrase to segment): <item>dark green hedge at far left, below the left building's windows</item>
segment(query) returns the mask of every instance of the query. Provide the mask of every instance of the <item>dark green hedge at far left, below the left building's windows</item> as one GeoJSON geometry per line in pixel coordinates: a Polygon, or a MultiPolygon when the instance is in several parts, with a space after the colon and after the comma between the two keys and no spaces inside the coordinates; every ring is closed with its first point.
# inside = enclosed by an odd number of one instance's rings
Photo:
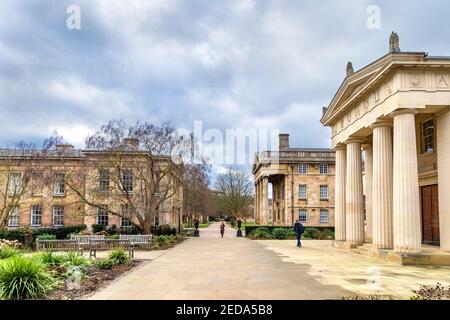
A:
{"type": "Polygon", "coordinates": [[[0,239],[18,240],[26,246],[34,245],[38,235],[54,235],[56,239],[67,239],[71,233],[79,233],[86,229],[86,225],[76,225],[70,227],[59,228],[18,228],[18,229],[3,229],[0,230],[0,239]]]}

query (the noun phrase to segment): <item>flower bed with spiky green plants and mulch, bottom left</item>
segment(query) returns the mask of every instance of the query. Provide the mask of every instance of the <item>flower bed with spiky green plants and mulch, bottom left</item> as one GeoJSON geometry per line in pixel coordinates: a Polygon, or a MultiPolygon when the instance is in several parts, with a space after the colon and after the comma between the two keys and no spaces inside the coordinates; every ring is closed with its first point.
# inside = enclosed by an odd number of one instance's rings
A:
{"type": "Polygon", "coordinates": [[[30,253],[13,246],[0,249],[0,300],[77,299],[107,285],[141,262],[123,250],[88,259],[75,252],[30,253]]]}

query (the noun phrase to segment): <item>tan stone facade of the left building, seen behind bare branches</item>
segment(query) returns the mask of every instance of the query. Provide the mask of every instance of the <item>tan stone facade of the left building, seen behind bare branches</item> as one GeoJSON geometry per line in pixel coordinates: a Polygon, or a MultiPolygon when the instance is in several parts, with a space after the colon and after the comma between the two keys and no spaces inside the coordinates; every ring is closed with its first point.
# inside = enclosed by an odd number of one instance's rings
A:
{"type": "MultiPolygon", "coordinates": [[[[75,189],[87,199],[95,203],[105,203],[105,205],[111,206],[111,209],[114,208],[115,212],[120,212],[119,208],[124,203],[125,195],[114,189],[104,194],[99,193],[99,175],[95,173],[99,167],[105,166],[106,168],[108,164],[112,166],[110,159],[114,158],[115,154],[108,151],[75,150],[72,146],[67,145],[57,146],[57,150],[39,157],[26,156],[26,153],[19,150],[2,149],[0,152],[0,186],[4,188],[8,185],[7,177],[11,174],[20,175],[22,181],[23,179],[29,180],[26,184],[24,181],[21,182],[23,194],[17,196],[17,203],[13,203],[15,200],[12,201],[12,199],[4,203],[4,205],[13,207],[14,212],[18,214],[18,218],[11,219],[10,216],[7,226],[9,228],[25,226],[51,228],[86,224],[90,229],[93,224],[99,224],[97,208],[86,204],[86,201],[83,201],[77,192],[69,188],[67,186],[69,180],[77,185],[75,189]],[[13,158],[14,160],[12,160],[13,158]],[[34,173],[36,172],[43,177],[39,181],[35,179],[34,173]],[[60,190],[62,192],[55,192],[57,190],[55,190],[54,181],[50,178],[56,172],[66,175],[67,182],[63,183],[65,186],[63,190],[60,190]],[[61,211],[58,211],[60,209],[61,211]],[[36,216],[40,216],[34,221],[33,212],[36,213],[36,216]],[[62,212],[60,219],[55,217],[59,212],[62,212]]],[[[123,161],[123,165],[126,167],[127,162],[132,161],[136,164],[139,163],[139,159],[144,159],[146,156],[143,151],[125,152],[121,162],[123,161]]],[[[170,158],[161,157],[157,160],[157,166],[162,167],[167,161],[171,161],[170,158]]],[[[139,183],[135,180],[133,180],[132,196],[139,197],[139,183]]],[[[113,185],[112,180],[110,183],[113,185]]],[[[8,194],[8,191],[1,190],[1,193],[8,194]]],[[[176,188],[174,195],[159,206],[159,224],[180,227],[183,214],[182,197],[182,188],[176,188]]],[[[120,216],[110,213],[106,220],[108,226],[121,226],[120,216]]]]}

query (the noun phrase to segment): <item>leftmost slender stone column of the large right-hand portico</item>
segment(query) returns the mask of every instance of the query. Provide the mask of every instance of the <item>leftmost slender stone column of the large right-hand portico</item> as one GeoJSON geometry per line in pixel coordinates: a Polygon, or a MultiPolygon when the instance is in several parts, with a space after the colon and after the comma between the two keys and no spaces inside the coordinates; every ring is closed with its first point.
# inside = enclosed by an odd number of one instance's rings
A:
{"type": "Polygon", "coordinates": [[[345,145],[336,147],[334,226],[336,241],[345,241],[345,171],[347,150],[345,145]]]}

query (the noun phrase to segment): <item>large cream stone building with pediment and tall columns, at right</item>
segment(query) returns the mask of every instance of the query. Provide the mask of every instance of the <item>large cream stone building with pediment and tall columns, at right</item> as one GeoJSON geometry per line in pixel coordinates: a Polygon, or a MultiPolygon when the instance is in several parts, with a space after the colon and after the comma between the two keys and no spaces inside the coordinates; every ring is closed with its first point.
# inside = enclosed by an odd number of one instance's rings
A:
{"type": "Polygon", "coordinates": [[[321,119],[336,151],[336,241],[450,251],[449,105],[450,57],[400,51],[395,33],[385,56],[356,72],[349,63],[321,119]]]}

